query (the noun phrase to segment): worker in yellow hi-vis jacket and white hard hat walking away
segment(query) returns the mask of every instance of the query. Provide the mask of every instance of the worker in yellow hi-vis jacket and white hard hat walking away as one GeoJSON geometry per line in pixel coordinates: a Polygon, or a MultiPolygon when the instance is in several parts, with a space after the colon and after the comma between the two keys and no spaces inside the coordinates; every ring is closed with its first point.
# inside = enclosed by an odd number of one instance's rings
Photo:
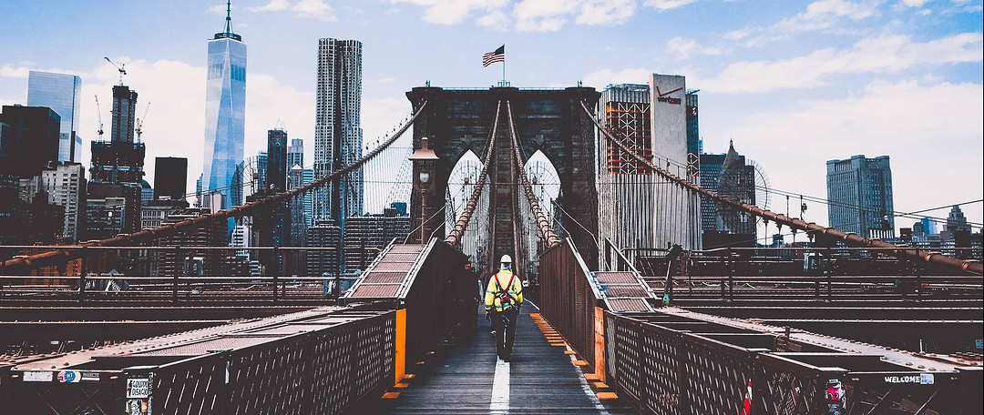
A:
{"type": "Polygon", "coordinates": [[[513,259],[502,256],[500,269],[489,278],[485,288],[485,320],[496,332],[496,352],[509,362],[513,355],[513,337],[523,307],[523,281],[513,273],[513,259]]]}

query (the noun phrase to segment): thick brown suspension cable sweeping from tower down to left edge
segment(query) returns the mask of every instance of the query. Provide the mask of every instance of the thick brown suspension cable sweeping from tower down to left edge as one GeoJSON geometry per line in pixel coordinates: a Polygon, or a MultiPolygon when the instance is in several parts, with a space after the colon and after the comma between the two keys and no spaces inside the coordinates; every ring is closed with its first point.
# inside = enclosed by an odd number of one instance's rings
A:
{"type": "Polygon", "coordinates": [[[195,229],[201,227],[203,224],[213,221],[228,219],[231,217],[241,217],[254,210],[260,208],[270,208],[280,202],[286,201],[291,198],[302,196],[305,193],[311,192],[332,181],[338,180],[338,178],[341,177],[342,175],[349,173],[352,170],[355,170],[356,168],[359,168],[360,166],[362,166],[362,164],[365,164],[366,161],[369,161],[370,159],[378,155],[380,152],[382,152],[384,149],[389,148],[390,145],[396,142],[397,139],[399,139],[400,136],[403,135],[403,133],[405,133],[406,130],[408,130],[410,126],[413,125],[414,121],[416,121],[417,117],[419,117],[420,114],[423,113],[423,110],[426,107],[427,107],[427,101],[424,101],[420,105],[420,107],[417,108],[417,112],[413,114],[413,116],[408,121],[406,121],[402,127],[400,127],[397,133],[394,134],[394,136],[391,137],[389,140],[384,142],[381,146],[373,149],[372,151],[369,151],[369,153],[362,156],[362,158],[359,158],[355,162],[348,164],[332,172],[331,174],[319,178],[318,180],[315,180],[314,182],[311,182],[310,184],[307,184],[305,186],[301,186],[293,190],[288,190],[286,192],[277,193],[276,195],[271,195],[267,198],[261,199],[259,201],[251,202],[246,205],[230,208],[228,210],[218,210],[215,213],[203,214],[201,216],[183,220],[177,223],[162,225],[154,229],[145,229],[130,234],[117,235],[109,239],[84,242],[78,244],[76,247],[73,248],[56,249],[41,254],[15,258],[2,263],[2,269],[5,269],[6,271],[6,269],[10,269],[12,267],[16,271],[23,272],[31,269],[36,269],[38,267],[47,267],[47,266],[52,266],[67,261],[79,259],[82,257],[82,250],[78,248],[83,248],[83,247],[130,246],[130,245],[136,245],[144,242],[151,242],[157,238],[173,235],[178,231],[186,230],[189,228],[195,229]]]}

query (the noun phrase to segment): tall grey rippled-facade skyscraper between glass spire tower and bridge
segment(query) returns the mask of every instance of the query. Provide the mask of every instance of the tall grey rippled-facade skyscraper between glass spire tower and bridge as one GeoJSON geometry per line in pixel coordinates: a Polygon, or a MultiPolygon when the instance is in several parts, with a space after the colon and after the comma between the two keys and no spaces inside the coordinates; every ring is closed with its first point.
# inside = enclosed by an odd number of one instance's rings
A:
{"type": "MultiPolygon", "coordinates": [[[[314,174],[332,171],[362,157],[362,42],[318,41],[318,95],[315,109],[314,174]]],[[[313,220],[362,214],[362,172],[356,170],[314,195],[313,220]]]]}

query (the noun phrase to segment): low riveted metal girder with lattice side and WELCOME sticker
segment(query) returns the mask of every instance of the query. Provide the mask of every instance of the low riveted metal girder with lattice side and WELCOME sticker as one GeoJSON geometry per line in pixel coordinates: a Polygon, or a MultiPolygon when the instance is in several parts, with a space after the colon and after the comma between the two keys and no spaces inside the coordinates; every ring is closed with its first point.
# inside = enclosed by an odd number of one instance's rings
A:
{"type": "Polygon", "coordinates": [[[885,413],[878,409],[890,405],[892,413],[981,411],[979,367],[925,372],[788,334],[671,315],[605,312],[604,328],[607,384],[642,413],[749,413],[746,402],[753,414],[885,413]]]}

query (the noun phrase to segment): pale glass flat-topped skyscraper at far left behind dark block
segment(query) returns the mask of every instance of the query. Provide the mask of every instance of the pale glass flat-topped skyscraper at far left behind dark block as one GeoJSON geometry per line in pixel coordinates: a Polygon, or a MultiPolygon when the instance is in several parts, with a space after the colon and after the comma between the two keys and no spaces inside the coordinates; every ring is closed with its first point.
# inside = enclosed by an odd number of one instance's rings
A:
{"type": "Polygon", "coordinates": [[[82,78],[78,76],[41,71],[28,76],[28,105],[46,106],[61,117],[58,161],[82,161],[82,138],[76,134],[81,97],[82,78]]]}

